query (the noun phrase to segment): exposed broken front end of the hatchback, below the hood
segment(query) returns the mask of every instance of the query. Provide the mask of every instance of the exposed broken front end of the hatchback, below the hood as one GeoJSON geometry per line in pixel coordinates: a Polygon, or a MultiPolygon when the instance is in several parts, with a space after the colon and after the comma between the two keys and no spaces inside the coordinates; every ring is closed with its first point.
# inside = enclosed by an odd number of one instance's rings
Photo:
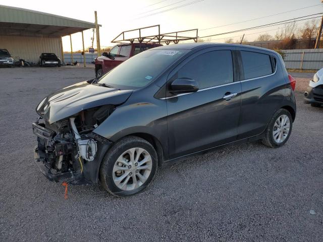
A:
{"type": "Polygon", "coordinates": [[[103,105],[53,124],[46,119],[44,123],[33,123],[38,142],[34,156],[41,172],[56,182],[96,184],[100,162],[111,143],[92,131],[114,108],[114,105],[103,105]]]}

